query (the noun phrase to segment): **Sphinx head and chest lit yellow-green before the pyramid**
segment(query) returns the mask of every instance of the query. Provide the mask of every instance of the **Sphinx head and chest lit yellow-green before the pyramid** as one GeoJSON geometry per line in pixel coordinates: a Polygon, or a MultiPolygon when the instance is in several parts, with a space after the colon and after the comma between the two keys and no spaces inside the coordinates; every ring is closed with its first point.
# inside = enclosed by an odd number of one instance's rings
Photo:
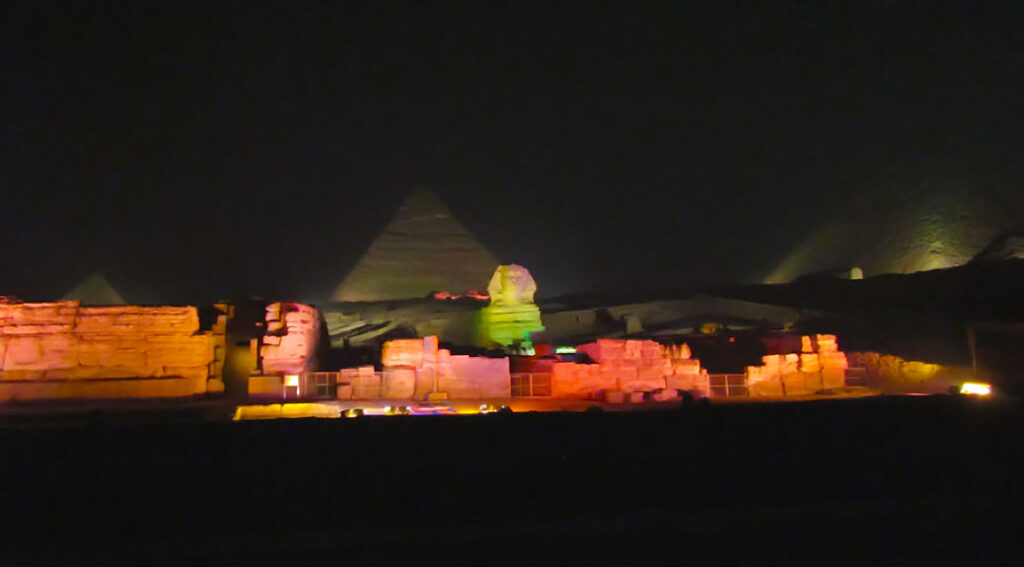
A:
{"type": "Polygon", "coordinates": [[[517,264],[498,266],[487,294],[490,305],[480,309],[479,344],[508,347],[529,342],[531,333],[544,331],[541,309],[534,303],[537,283],[529,271],[517,264]]]}

